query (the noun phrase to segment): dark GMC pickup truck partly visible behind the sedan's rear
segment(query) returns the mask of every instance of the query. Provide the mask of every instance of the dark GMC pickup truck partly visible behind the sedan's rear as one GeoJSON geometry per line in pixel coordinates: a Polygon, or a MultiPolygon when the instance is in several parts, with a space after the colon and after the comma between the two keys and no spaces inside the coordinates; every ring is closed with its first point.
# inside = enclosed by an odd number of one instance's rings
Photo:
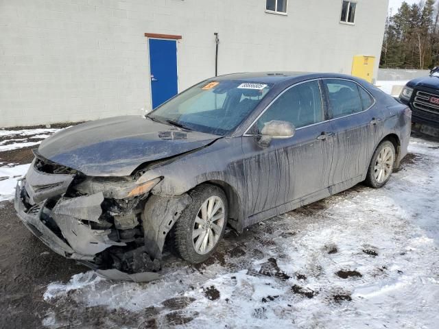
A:
{"type": "Polygon", "coordinates": [[[410,106],[413,123],[439,128],[439,67],[427,77],[407,82],[399,99],[410,106]]]}

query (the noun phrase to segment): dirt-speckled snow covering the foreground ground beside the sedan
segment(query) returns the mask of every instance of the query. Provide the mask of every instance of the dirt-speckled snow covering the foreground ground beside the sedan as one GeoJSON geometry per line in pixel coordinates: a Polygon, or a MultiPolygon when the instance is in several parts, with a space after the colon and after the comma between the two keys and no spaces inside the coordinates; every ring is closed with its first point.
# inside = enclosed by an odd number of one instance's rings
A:
{"type": "Polygon", "coordinates": [[[439,143],[412,138],[381,189],[361,184],[229,231],[211,262],[167,255],[156,282],[91,271],[49,284],[43,324],[106,328],[437,328],[439,143]]]}

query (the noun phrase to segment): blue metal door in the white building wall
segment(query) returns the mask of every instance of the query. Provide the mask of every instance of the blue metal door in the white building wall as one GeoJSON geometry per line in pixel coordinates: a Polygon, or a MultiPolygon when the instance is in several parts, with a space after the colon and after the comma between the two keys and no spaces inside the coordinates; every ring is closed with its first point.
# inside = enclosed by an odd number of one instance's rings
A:
{"type": "Polygon", "coordinates": [[[178,93],[176,40],[149,39],[152,108],[178,93]]]}

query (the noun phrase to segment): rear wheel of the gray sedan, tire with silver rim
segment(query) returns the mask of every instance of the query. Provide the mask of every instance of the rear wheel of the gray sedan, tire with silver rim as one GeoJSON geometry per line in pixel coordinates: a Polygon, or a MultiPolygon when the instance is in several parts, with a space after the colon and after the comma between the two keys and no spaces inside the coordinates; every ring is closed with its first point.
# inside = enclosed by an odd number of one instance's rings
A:
{"type": "Polygon", "coordinates": [[[395,147],[390,141],[381,142],[372,156],[366,184],[373,188],[380,188],[388,182],[392,175],[396,154],[395,147]]]}

